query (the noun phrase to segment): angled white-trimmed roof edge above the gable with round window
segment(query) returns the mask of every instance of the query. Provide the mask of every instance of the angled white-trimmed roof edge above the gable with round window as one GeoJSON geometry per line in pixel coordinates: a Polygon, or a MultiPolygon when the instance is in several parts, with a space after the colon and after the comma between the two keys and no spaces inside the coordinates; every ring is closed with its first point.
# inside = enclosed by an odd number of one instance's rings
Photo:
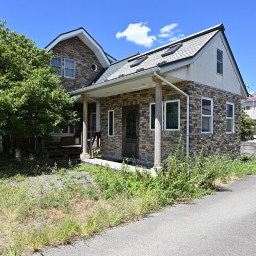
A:
{"type": "Polygon", "coordinates": [[[110,66],[110,63],[116,61],[115,58],[104,52],[103,48],[84,28],[78,28],[58,35],[45,48],[47,51],[50,51],[54,46],[58,44],[58,42],[74,36],[78,36],[80,40],[84,42],[84,44],[86,44],[94,52],[103,68],[108,68],[110,66]]]}

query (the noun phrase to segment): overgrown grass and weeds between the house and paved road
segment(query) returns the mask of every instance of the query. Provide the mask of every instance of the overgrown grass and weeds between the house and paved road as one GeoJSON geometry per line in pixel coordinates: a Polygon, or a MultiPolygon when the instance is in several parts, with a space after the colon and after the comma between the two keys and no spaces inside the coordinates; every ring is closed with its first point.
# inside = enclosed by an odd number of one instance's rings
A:
{"type": "MultiPolygon", "coordinates": [[[[49,173],[57,175],[65,187],[52,182],[48,190],[41,187],[39,194],[33,193],[29,185],[20,186],[27,177],[19,176],[12,165],[15,176],[5,173],[0,180],[0,254],[20,255],[86,238],[140,219],[165,205],[209,194],[215,189],[216,180],[226,182],[256,172],[255,157],[231,160],[217,153],[205,158],[202,150],[190,166],[188,160],[178,145],[156,177],[139,169],[130,172],[124,163],[120,172],[108,166],[55,165],[49,173]],[[95,183],[75,183],[66,177],[69,170],[89,172],[95,183]]],[[[40,169],[36,168],[34,175],[40,169]]],[[[33,173],[31,169],[30,172],[33,173]]],[[[72,174],[72,178],[80,180],[83,176],[72,174]]]]}

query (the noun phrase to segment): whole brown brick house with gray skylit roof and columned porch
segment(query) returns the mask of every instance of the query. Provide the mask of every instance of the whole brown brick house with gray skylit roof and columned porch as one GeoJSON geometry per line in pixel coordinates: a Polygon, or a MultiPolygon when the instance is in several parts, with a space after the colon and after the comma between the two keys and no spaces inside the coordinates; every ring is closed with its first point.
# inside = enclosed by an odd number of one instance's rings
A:
{"type": "Polygon", "coordinates": [[[88,132],[100,132],[102,156],[155,166],[181,135],[187,155],[203,145],[208,155],[240,154],[240,101],[248,93],[222,24],[118,61],[83,28],[46,49],[81,117],[75,129],[53,136],[72,144],[83,131],[82,160],[88,132]]]}

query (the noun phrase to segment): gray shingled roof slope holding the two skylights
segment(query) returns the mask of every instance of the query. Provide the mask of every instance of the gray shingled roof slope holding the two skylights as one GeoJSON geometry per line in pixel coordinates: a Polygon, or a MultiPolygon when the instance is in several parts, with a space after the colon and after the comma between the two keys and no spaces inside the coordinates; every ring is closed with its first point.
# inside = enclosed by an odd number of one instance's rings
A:
{"type": "Polygon", "coordinates": [[[178,41],[172,42],[172,44],[165,45],[158,49],[154,49],[152,51],[133,56],[121,61],[116,61],[111,64],[111,66],[106,69],[106,71],[101,75],[101,77],[95,82],[95,84],[110,81],[122,76],[130,75],[133,73],[140,72],[142,70],[151,69],[157,66],[161,66],[166,63],[171,63],[174,61],[179,61],[185,58],[193,57],[197,54],[200,49],[221,29],[221,27],[217,26],[214,31],[210,30],[207,32],[203,31],[203,33],[198,33],[192,35],[190,37],[186,37],[180,39],[178,41]],[[172,45],[176,45],[177,42],[182,42],[182,47],[179,48],[175,53],[162,57],[161,55],[166,51],[166,49],[172,45]],[[145,59],[140,65],[135,67],[130,67],[135,60],[141,56],[147,55],[148,58],[145,59]]]}

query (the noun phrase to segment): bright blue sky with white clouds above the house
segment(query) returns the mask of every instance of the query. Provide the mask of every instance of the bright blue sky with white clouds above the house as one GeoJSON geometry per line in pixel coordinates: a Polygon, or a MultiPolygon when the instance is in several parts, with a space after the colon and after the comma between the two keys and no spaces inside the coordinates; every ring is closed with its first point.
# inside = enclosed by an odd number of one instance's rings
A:
{"type": "Polygon", "coordinates": [[[0,20],[38,47],[84,27],[117,59],[223,23],[245,84],[256,92],[255,1],[9,0],[0,6],[0,20]]]}

